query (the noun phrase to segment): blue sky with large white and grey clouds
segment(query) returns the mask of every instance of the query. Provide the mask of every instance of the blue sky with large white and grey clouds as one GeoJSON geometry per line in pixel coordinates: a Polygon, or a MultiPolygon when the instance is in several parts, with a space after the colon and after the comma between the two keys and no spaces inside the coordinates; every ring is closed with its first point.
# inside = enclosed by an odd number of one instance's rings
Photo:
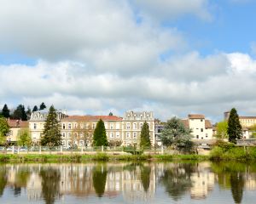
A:
{"type": "Polygon", "coordinates": [[[256,115],[254,0],[0,0],[0,107],[256,115]]]}

